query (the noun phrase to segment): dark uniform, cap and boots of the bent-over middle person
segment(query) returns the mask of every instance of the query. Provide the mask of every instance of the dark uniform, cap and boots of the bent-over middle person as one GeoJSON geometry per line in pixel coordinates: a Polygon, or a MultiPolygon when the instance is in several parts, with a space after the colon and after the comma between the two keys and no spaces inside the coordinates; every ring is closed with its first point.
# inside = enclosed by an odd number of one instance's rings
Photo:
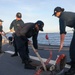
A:
{"type": "MultiPolygon", "coordinates": [[[[36,23],[25,23],[24,27],[19,30],[16,35],[19,37],[17,38],[17,47],[19,50],[20,57],[22,61],[25,63],[26,69],[35,69],[35,66],[32,66],[29,62],[29,49],[28,49],[28,38],[32,37],[33,45],[35,49],[38,48],[37,45],[37,37],[38,32],[36,25],[38,25],[39,30],[42,31],[44,23],[42,21],[37,21],[36,23]]],[[[18,31],[18,30],[17,30],[18,31]]]]}

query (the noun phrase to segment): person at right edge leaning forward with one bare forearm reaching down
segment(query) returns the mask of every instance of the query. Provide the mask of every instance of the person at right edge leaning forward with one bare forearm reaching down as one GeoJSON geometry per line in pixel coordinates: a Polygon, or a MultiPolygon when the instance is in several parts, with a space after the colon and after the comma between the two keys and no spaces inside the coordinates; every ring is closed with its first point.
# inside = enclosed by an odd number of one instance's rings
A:
{"type": "Polygon", "coordinates": [[[62,50],[64,39],[66,35],[66,26],[74,28],[73,38],[71,40],[69,55],[71,59],[71,68],[65,72],[65,75],[75,74],[75,13],[64,11],[64,8],[56,7],[54,9],[54,16],[59,18],[59,29],[60,29],[60,49],[62,50]]]}

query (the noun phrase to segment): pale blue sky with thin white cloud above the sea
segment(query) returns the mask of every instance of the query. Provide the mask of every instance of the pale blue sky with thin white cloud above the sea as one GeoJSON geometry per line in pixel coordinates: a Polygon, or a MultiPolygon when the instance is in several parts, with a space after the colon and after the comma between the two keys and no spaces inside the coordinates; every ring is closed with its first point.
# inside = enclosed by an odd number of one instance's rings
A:
{"type": "MultiPolygon", "coordinates": [[[[59,19],[52,16],[54,8],[60,6],[65,11],[75,12],[75,0],[0,0],[0,19],[3,30],[9,31],[11,22],[16,19],[16,13],[22,13],[22,20],[35,23],[44,22],[43,32],[59,32],[59,19]]],[[[72,31],[66,28],[66,31],[72,31]]]]}

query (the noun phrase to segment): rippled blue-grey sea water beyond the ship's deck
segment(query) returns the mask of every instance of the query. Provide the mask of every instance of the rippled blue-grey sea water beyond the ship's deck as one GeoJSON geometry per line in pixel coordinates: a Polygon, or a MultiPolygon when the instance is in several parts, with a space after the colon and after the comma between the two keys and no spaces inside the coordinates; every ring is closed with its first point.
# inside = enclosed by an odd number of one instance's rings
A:
{"type": "MultiPolygon", "coordinates": [[[[60,45],[60,34],[59,33],[47,33],[49,40],[46,39],[46,33],[39,33],[38,34],[38,43],[39,44],[51,44],[51,45],[60,45]]],[[[11,33],[7,34],[7,37],[11,36],[11,33]]],[[[67,33],[65,40],[64,40],[64,46],[69,46],[71,39],[72,39],[73,33],[67,33]]],[[[30,38],[29,40],[31,40],[30,38]]]]}

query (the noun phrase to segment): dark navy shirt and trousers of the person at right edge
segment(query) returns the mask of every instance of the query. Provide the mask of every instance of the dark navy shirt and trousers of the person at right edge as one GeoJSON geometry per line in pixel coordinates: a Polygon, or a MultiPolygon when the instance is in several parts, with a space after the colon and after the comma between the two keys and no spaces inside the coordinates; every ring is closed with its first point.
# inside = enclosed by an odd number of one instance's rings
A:
{"type": "Polygon", "coordinates": [[[72,63],[75,64],[75,13],[62,12],[59,17],[60,34],[66,34],[65,27],[74,28],[73,38],[70,44],[70,58],[72,63]]]}

